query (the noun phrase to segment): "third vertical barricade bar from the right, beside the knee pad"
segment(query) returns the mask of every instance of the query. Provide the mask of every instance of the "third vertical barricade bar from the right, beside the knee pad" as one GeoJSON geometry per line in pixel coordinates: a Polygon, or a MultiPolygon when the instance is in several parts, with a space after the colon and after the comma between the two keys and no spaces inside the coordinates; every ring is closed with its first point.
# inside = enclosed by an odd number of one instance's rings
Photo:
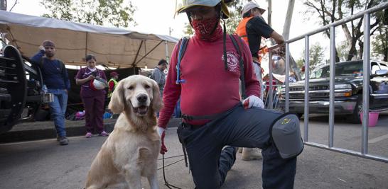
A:
{"type": "Polygon", "coordinates": [[[308,93],[308,77],[309,77],[309,67],[310,67],[310,47],[309,47],[308,35],[304,38],[304,141],[308,142],[308,101],[310,95],[308,93]]]}

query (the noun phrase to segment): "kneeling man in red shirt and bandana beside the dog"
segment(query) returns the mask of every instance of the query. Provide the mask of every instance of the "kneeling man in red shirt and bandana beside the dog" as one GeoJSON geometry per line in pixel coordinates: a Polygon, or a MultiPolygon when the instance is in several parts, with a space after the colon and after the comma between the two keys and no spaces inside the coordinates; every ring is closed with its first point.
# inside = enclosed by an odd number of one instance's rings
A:
{"type": "Polygon", "coordinates": [[[264,188],[292,188],[296,157],[281,159],[271,142],[269,127],[281,113],[263,109],[252,55],[244,42],[239,46],[248,98],[240,101],[239,52],[229,36],[223,40],[220,25],[220,19],[228,15],[224,1],[183,1],[178,9],[181,12],[187,13],[195,35],[188,41],[178,68],[180,45],[171,55],[164,107],[158,118],[161,154],[167,151],[163,142],[166,125],[180,97],[183,123],[178,127],[178,137],[188,153],[196,188],[220,188],[235,163],[236,147],[263,149],[264,188]]]}

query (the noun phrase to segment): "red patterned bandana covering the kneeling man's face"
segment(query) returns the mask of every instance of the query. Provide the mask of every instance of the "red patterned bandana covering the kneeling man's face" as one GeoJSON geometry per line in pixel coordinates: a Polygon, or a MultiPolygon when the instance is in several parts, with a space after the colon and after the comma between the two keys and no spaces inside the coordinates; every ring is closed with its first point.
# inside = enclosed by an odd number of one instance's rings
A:
{"type": "Polygon", "coordinates": [[[193,20],[191,24],[195,30],[195,37],[200,40],[212,42],[222,37],[222,28],[218,23],[220,18],[205,18],[201,21],[193,20]],[[217,28],[212,33],[214,26],[217,24],[217,28]]]}

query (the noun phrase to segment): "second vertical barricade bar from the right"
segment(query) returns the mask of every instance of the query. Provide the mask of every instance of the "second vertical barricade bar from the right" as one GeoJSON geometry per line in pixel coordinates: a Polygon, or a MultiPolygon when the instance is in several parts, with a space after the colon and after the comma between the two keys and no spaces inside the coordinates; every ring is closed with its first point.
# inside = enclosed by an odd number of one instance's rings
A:
{"type": "Polygon", "coordinates": [[[335,26],[330,27],[330,98],[329,98],[329,147],[334,136],[334,90],[335,90],[335,26]]]}

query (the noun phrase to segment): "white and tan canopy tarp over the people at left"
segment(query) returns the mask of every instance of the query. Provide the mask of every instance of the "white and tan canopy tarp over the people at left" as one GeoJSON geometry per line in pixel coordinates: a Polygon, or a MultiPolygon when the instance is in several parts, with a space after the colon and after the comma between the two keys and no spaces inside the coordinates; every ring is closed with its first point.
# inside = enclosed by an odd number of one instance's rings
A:
{"type": "Polygon", "coordinates": [[[10,45],[31,57],[43,40],[53,40],[56,57],[68,65],[85,66],[83,58],[92,54],[107,67],[155,67],[171,55],[178,39],[168,35],[139,33],[53,18],[0,11],[0,32],[10,45]]]}

